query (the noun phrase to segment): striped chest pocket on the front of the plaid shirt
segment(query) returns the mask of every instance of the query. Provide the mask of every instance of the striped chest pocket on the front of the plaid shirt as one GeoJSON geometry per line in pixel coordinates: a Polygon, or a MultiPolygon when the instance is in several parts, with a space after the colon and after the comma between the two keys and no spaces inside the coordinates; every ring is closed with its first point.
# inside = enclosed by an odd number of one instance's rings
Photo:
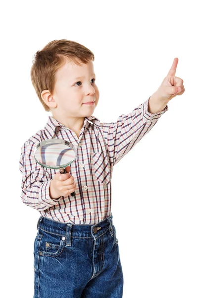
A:
{"type": "Polygon", "coordinates": [[[100,150],[92,153],[94,172],[97,180],[107,185],[110,183],[110,168],[108,156],[105,150],[100,150]]]}

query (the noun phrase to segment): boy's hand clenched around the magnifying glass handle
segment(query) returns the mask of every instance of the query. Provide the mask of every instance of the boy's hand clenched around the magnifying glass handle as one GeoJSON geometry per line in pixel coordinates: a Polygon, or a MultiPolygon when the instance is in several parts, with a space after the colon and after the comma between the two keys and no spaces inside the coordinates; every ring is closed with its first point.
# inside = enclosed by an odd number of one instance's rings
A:
{"type": "Polygon", "coordinates": [[[74,177],[70,175],[70,165],[65,167],[66,174],[56,173],[50,182],[49,196],[58,199],[60,196],[68,196],[76,189],[74,177]]]}

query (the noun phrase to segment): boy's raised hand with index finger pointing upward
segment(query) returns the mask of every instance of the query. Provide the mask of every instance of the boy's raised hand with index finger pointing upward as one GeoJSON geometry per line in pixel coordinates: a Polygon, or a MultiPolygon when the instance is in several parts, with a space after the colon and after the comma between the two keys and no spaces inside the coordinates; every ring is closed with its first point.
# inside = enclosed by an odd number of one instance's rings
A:
{"type": "Polygon", "coordinates": [[[173,97],[182,95],[185,91],[184,81],[175,76],[178,58],[175,58],[167,76],[163,79],[157,91],[153,94],[159,101],[168,103],[173,97]]]}

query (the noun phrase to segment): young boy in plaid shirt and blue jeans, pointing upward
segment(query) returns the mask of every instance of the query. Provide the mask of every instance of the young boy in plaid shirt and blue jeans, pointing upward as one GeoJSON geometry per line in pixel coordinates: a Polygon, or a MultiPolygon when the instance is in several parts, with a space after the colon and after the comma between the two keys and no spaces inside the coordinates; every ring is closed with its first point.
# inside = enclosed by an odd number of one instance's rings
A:
{"type": "Polygon", "coordinates": [[[121,298],[123,273],[111,214],[111,177],[120,161],[185,89],[178,59],[161,86],[117,122],[93,116],[99,89],[94,54],[70,40],[49,42],[35,55],[31,80],[46,111],[44,129],[21,149],[21,199],[41,214],[34,242],[34,298],[121,298]],[[37,144],[52,138],[75,147],[65,174],[36,163],[37,144]],[[70,172],[70,173],[69,173],[70,172]],[[72,192],[76,195],[70,196],[72,192]]]}

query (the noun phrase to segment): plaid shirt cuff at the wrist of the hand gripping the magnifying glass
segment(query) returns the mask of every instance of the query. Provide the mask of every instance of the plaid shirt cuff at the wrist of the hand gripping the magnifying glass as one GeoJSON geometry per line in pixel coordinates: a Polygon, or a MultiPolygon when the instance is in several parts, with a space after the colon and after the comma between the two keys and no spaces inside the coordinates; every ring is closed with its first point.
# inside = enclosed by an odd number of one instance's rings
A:
{"type": "MultiPolygon", "coordinates": [[[[52,180],[52,179],[51,179],[52,180]]],[[[48,180],[46,182],[44,182],[39,190],[39,201],[43,204],[45,204],[46,206],[53,206],[53,205],[58,205],[58,201],[61,198],[61,196],[57,199],[51,199],[49,196],[49,186],[50,186],[50,182],[51,180],[48,180]]]]}

